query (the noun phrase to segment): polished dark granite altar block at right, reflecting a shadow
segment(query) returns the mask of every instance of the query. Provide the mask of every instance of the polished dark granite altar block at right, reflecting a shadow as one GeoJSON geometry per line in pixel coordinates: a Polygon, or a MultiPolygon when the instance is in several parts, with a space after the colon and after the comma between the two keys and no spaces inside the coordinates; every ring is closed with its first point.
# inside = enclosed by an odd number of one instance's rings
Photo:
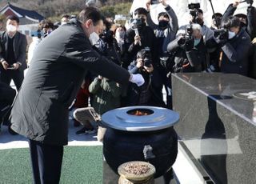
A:
{"type": "Polygon", "coordinates": [[[256,81],[238,74],[173,74],[172,86],[180,114],[174,128],[195,162],[215,183],[256,183],[256,108],[234,97],[256,91],[256,81]]]}

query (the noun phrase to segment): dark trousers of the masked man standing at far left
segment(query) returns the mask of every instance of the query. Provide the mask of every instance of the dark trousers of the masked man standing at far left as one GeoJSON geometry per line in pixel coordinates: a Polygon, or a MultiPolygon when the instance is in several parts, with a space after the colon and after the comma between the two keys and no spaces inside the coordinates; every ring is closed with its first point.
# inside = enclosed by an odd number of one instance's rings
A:
{"type": "Polygon", "coordinates": [[[14,80],[16,89],[19,90],[19,88],[22,86],[22,82],[24,79],[24,71],[2,69],[0,73],[0,81],[6,83],[7,85],[10,85],[11,79],[14,80]]]}

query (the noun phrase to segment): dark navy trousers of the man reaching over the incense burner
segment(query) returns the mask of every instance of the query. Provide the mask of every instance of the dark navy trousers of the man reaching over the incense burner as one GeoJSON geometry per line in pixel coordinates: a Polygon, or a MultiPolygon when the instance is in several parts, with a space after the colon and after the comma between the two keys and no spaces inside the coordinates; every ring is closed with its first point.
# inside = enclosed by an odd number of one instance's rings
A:
{"type": "Polygon", "coordinates": [[[58,184],[63,146],[46,145],[29,139],[34,184],[58,184]]]}

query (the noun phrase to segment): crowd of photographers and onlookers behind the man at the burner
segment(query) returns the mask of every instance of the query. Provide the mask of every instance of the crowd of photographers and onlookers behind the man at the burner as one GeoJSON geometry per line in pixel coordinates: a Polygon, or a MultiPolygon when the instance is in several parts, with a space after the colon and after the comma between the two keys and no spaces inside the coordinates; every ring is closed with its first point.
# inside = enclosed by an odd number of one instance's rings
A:
{"type": "MultiPolygon", "coordinates": [[[[242,74],[255,78],[256,9],[251,4],[247,14],[234,14],[240,1],[235,0],[224,14],[212,17],[212,26],[204,24],[203,11],[193,4],[190,7],[190,22],[178,25],[178,18],[166,0],[158,14],[158,24],[150,16],[150,2],[145,8],[134,11],[128,26],[114,24],[103,18],[97,31],[90,35],[90,44],[102,56],[130,74],[142,74],[145,83],[126,86],[90,72],[86,74],[77,98],[70,106],[74,126],[80,126],[77,134],[95,133],[102,140],[104,128],[100,117],[108,110],[122,106],[162,106],[172,109],[172,86],[170,74],[180,72],[223,72],[242,74]],[[162,88],[166,89],[166,102],[162,88]]],[[[63,14],[60,22],[43,20],[33,33],[26,62],[26,37],[18,32],[19,19],[6,18],[6,31],[1,39],[1,94],[0,117],[6,125],[8,112],[14,100],[13,80],[16,89],[22,86],[24,70],[30,70],[30,62],[40,42],[59,26],[77,21],[74,15],[63,14]]],[[[110,71],[111,72],[111,71],[110,71]]],[[[11,129],[10,132],[15,134],[11,129]]]]}

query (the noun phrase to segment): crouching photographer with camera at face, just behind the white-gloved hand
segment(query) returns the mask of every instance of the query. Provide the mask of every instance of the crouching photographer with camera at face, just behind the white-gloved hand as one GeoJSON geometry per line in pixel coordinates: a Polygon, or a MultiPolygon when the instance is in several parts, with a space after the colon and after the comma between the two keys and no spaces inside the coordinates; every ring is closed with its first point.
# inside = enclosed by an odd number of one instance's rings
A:
{"type": "Polygon", "coordinates": [[[145,83],[142,86],[130,84],[126,94],[126,106],[149,106],[152,97],[151,77],[152,65],[149,48],[138,51],[137,59],[130,63],[130,74],[142,74],[145,83]]]}

